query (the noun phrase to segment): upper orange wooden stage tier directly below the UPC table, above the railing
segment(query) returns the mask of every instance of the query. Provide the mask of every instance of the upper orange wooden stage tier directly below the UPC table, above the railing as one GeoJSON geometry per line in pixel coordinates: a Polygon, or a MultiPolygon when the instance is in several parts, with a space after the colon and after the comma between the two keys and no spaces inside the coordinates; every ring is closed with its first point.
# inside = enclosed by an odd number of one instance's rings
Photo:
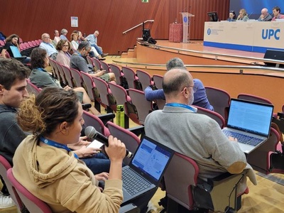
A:
{"type": "Polygon", "coordinates": [[[157,40],[155,45],[137,40],[136,48],[121,55],[120,62],[125,60],[139,64],[165,65],[173,54],[178,55],[187,65],[264,65],[263,53],[206,47],[202,40],[190,43],[157,40]]]}

